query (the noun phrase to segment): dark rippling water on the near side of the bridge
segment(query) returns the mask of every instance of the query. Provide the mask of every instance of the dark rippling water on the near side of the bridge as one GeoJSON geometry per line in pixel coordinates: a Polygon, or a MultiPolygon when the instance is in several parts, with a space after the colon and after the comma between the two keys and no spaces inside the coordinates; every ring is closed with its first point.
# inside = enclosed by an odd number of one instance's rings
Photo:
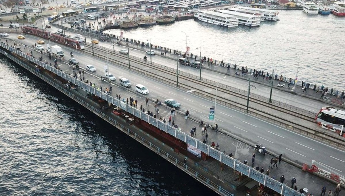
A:
{"type": "Polygon", "coordinates": [[[0,195],[217,195],[0,57],[0,195]]]}

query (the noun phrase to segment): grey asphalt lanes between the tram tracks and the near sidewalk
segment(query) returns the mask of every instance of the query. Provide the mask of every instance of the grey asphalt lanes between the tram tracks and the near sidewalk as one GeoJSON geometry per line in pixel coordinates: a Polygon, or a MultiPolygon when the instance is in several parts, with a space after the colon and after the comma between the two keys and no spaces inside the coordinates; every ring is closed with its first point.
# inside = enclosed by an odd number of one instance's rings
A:
{"type": "MultiPolygon", "coordinates": [[[[28,46],[36,43],[37,40],[37,38],[33,36],[26,36],[26,39],[18,40],[16,36],[17,35],[12,34],[9,38],[28,46]]],[[[46,43],[48,42],[48,40],[45,41],[46,43]]],[[[68,59],[71,49],[64,46],[61,47],[66,53],[66,59],[68,59]]],[[[77,51],[73,53],[75,55],[74,58],[79,60],[81,67],[85,67],[92,62],[92,65],[97,69],[95,74],[103,74],[105,62],[77,51]]],[[[158,98],[159,100],[164,100],[166,98],[175,99],[182,105],[180,108],[181,111],[189,110],[191,116],[204,120],[205,122],[208,121],[209,107],[214,106],[213,101],[200,98],[114,65],[109,65],[109,70],[117,77],[117,81],[120,76],[128,78],[132,83],[131,88],[133,89],[136,84],[145,85],[150,91],[148,97],[152,99],[158,98]]],[[[269,122],[225,106],[217,105],[216,110],[216,122],[219,128],[224,129],[224,131],[228,131],[235,134],[237,137],[252,141],[253,143],[262,144],[269,151],[273,151],[276,154],[283,154],[284,157],[296,161],[297,163],[307,163],[311,165],[311,161],[316,160],[324,164],[324,167],[321,168],[325,168],[328,171],[333,170],[334,172],[332,173],[342,174],[345,172],[345,151],[343,150],[301,136],[287,129],[280,128],[269,122]]],[[[225,146],[224,144],[220,145],[225,146]]]]}

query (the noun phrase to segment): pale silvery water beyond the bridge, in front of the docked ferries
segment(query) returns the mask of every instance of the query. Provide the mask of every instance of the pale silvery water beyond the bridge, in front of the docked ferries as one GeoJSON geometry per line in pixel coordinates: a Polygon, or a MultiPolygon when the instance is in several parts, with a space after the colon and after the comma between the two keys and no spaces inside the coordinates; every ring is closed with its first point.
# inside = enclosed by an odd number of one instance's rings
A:
{"type": "MultiPolygon", "coordinates": [[[[279,10],[280,21],[264,21],[260,27],[220,28],[185,20],[166,26],[126,30],[124,37],[185,51],[186,32],[190,51],[248,68],[264,69],[299,80],[345,90],[345,17],[307,15],[302,10],[279,10]],[[149,41],[146,41],[149,42],[149,41]]],[[[108,30],[119,35],[119,30],[108,30]]]]}

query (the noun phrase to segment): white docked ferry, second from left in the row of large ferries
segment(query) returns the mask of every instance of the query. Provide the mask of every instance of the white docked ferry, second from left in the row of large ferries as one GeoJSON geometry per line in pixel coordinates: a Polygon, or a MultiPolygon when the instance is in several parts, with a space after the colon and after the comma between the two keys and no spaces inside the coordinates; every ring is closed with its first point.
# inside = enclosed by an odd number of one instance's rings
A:
{"type": "Polygon", "coordinates": [[[238,24],[243,24],[248,27],[260,26],[261,18],[255,15],[234,12],[234,11],[229,11],[229,10],[217,10],[217,12],[229,14],[230,16],[238,18],[238,24]]]}

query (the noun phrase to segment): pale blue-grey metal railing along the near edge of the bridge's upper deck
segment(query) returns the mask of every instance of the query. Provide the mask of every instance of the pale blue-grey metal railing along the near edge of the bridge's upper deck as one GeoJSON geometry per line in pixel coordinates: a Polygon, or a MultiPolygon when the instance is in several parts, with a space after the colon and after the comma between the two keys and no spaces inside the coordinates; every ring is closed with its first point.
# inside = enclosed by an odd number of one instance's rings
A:
{"type": "MultiPolygon", "coordinates": [[[[219,162],[224,163],[225,165],[233,168],[236,171],[239,171],[243,175],[246,175],[249,178],[256,180],[257,182],[263,184],[264,186],[267,186],[267,187],[275,190],[276,192],[280,193],[283,196],[304,196],[304,194],[298,193],[297,191],[290,188],[289,186],[286,186],[285,184],[282,184],[282,183],[278,182],[277,180],[275,180],[275,179],[273,179],[267,175],[264,175],[264,174],[260,173],[259,171],[256,171],[252,167],[241,163],[237,159],[234,159],[232,157],[225,155],[224,153],[210,147],[209,145],[204,144],[202,141],[200,141],[196,138],[193,138],[193,137],[189,136],[188,134],[165,124],[164,122],[161,122],[161,121],[157,120],[156,118],[153,118],[153,117],[143,113],[141,110],[138,110],[134,107],[127,105],[126,102],[122,102],[122,101],[120,101],[120,100],[118,100],[118,99],[116,99],[110,95],[107,95],[106,93],[103,93],[103,92],[97,90],[96,88],[93,88],[93,87],[83,83],[82,81],[63,73],[62,71],[55,69],[54,67],[52,67],[52,66],[50,66],[50,65],[48,65],[42,61],[39,61],[38,59],[32,58],[32,57],[26,55],[25,53],[23,53],[19,50],[16,50],[15,48],[7,46],[3,42],[1,43],[1,47],[6,48],[7,50],[11,51],[12,53],[14,53],[18,56],[21,56],[30,62],[35,63],[36,65],[60,76],[63,79],[66,79],[66,80],[72,82],[72,84],[77,85],[80,89],[84,90],[85,92],[92,93],[92,94],[110,102],[111,104],[121,108],[122,110],[127,111],[129,114],[147,122],[148,124],[151,124],[152,126],[157,127],[158,129],[160,129],[162,131],[165,131],[167,134],[185,142],[186,144],[194,146],[195,148],[206,153],[208,156],[213,157],[214,159],[218,160],[219,162]]],[[[4,55],[8,56],[8,57],[11,57],[12,60],[15,59],[14,61],[16,61],[16,62],[19,61],[18,59],[12,57],[11,55],[7,55],[6,52],[4,52],[3,50],[0,50],[0,52],[3,53],[4,55]]],[[[22,65],[23,63],[20,63],[20,64],[22,65]]],[[[103,113],[103,115],[104,115],[104,113],[103,113]]]]}

